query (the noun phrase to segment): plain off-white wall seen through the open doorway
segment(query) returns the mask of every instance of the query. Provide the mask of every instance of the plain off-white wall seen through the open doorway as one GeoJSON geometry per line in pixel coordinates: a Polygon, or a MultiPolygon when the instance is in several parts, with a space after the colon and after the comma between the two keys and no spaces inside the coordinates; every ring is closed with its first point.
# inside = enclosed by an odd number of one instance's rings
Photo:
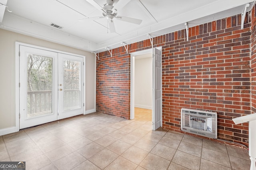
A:
{"type": "Polygon", "coordinates": [[[152,54],[135,57],[134,106],[152,109],[152,54]]]}

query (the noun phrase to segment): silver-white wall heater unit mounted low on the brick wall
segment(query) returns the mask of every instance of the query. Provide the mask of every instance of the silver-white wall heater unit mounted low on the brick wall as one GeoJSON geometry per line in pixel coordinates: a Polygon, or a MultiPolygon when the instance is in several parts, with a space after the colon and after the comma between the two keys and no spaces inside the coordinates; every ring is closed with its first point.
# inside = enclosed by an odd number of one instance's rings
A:
{"type": "Polygon", "coordinates": [[[181,109],[181,130],[217,139],[217,113],[198,109],[181,109]]]}

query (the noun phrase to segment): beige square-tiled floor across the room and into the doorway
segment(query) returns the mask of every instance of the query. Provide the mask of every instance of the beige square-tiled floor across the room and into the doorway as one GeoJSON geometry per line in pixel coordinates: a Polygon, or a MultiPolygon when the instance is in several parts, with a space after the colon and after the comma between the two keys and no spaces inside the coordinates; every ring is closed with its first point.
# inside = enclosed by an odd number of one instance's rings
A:
{"type": "Polygon", "coordinates": [[[80,115],[0,136],[0,161],[27,170],[249,170],[248,151],[181,133],[152,131],[151,110],[134,120],[80,115]]]}

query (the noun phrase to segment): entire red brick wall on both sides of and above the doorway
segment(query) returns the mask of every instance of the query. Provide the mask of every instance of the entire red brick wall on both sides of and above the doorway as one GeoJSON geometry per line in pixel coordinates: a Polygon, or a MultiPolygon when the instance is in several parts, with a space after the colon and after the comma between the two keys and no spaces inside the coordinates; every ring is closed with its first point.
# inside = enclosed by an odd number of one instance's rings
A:
{"type": "MultiPolygon", "coordinates": [[[[232,118],[251,113],[251,21],[241,15],[212,21],[154,37],[162,46],[163,127],[180,131],[182,107],[216,111],[218,138],[248,145],[248,123],[234,125],[232,118]]],[[[252,36],[254,37],[254,36],[252,36]]],[[[151,48],[150,40],[130,44],[128,53],[151,48]]],[[[97,60],[97,111],[130,116],[130,56],[124,47],[99,54],[97,60]]],[[[255,107],[256,108],[256,107],[255,107]]]]}

